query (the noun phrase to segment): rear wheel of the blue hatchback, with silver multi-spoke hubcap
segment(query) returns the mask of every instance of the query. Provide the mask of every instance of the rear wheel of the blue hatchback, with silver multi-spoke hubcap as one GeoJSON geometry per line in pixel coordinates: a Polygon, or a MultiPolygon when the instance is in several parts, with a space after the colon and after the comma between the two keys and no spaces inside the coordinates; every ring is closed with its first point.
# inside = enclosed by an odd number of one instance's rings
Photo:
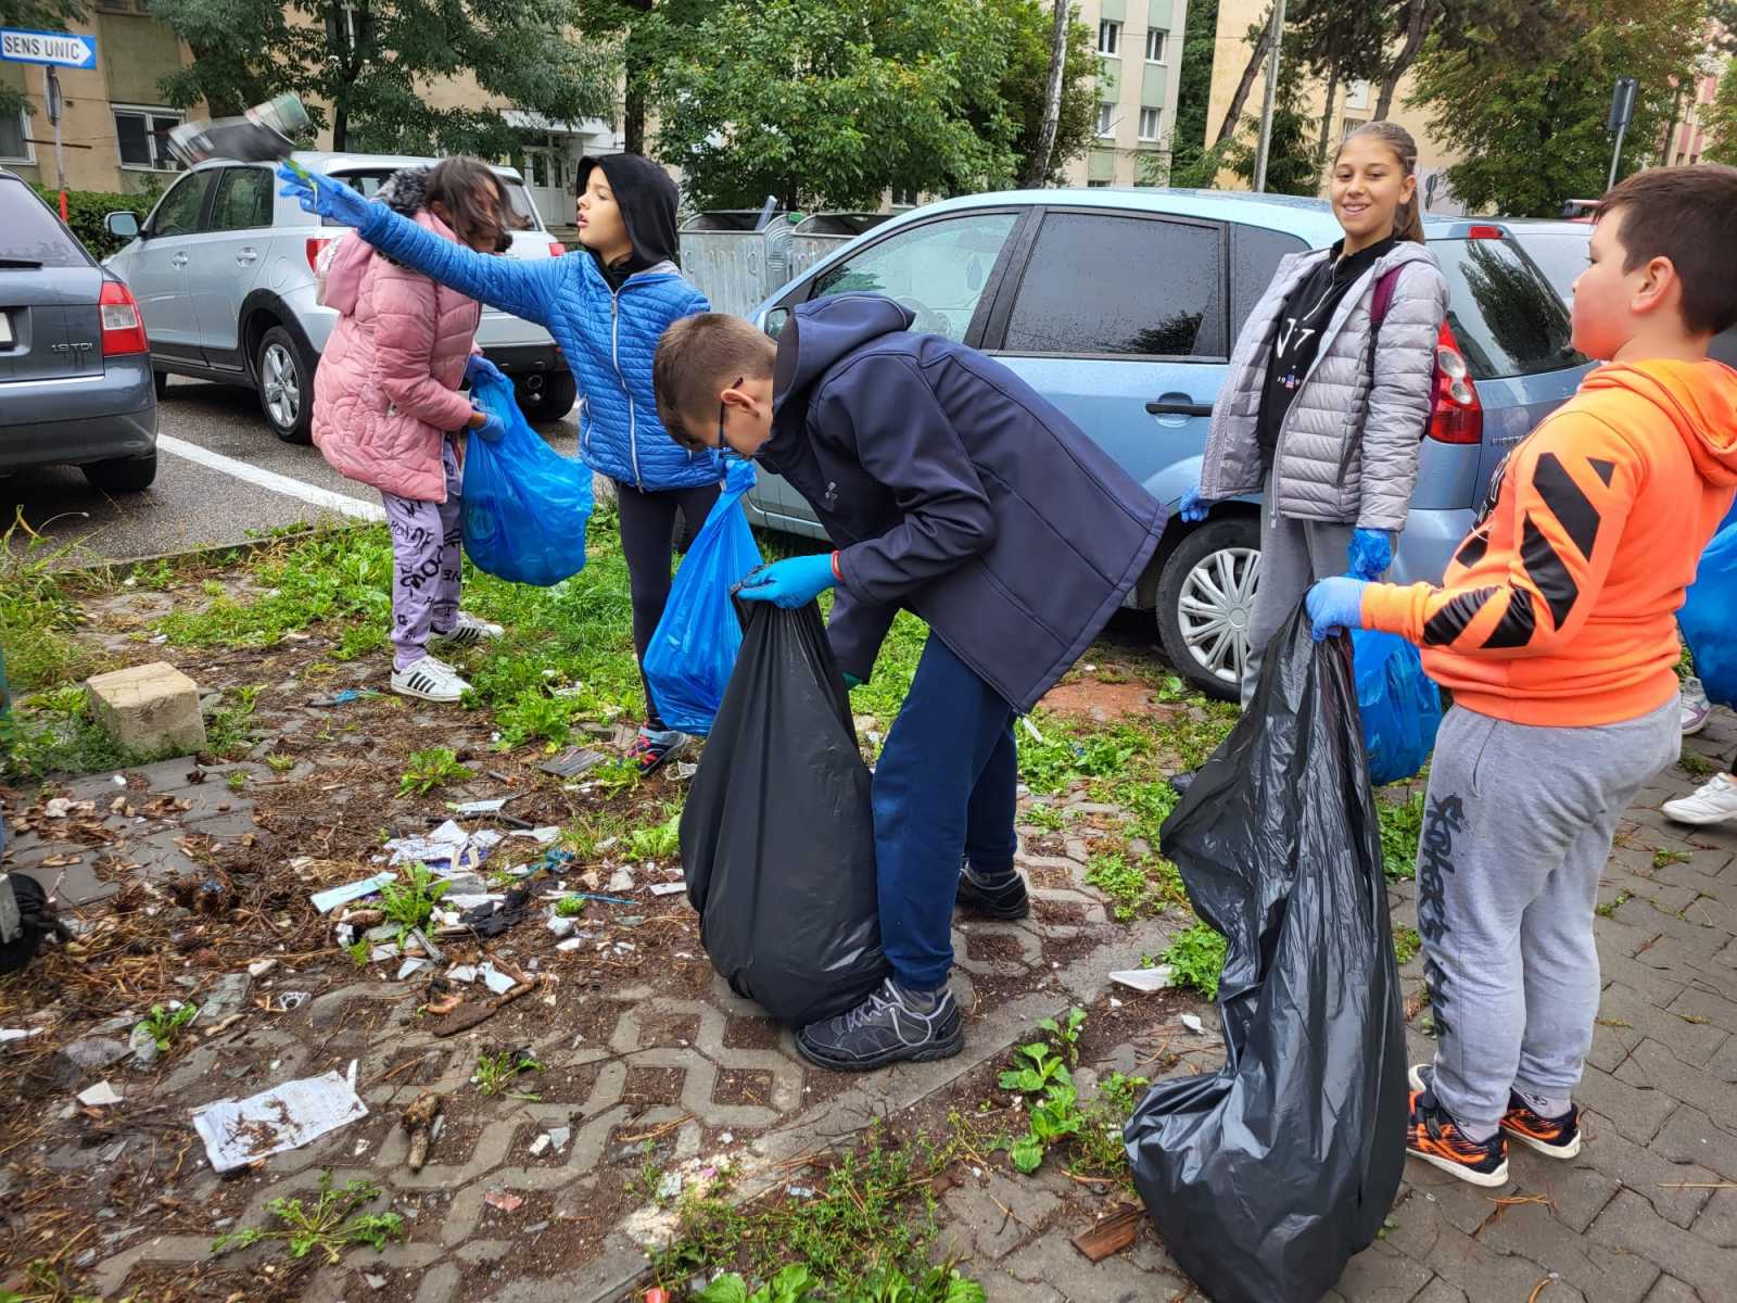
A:
{"type": "Polygon", "coordinates": [[[1207,521],[1176,546],[1159,573],[1164,655],[1211,697],[1233,702],[1240,695],[1259,579],[1261,526],[1254,516],[1207,521]]]}

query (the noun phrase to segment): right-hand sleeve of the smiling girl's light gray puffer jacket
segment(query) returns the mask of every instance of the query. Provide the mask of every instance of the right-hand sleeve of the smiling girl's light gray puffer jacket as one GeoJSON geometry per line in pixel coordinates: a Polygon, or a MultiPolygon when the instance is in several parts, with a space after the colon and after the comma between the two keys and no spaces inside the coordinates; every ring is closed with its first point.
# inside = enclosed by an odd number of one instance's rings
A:
{"type": "Polygon", "coordinates": [[[1435,262],[1410,262],[1398,276],[1369,367],[1357,513],[1358,528],[1395,533],[1405,528],[1417,486],[1417,453],[1435,400],[1435,346],[1447,320],[1447,281],[1435,262]]]}

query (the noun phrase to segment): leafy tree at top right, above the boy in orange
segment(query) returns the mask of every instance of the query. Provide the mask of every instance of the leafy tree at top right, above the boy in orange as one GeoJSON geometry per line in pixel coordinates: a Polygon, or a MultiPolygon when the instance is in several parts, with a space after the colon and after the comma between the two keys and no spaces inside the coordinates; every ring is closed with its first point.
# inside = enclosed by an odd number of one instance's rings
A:
{"type": "Polygon", "coordinates": [[[1542,59],[1497,26],[1431,36],[1412,104],[1430,109],[1435,139],[1463,155],[1447,169],[1454,193],[1473,210],[1534,217],[1602,195],[1619,76],[1640,78],[1622,172],[1645,165],[1676,82],[1702,54],[1706,17],[1707,0],[1558,0],[1548,16],[1555,49],[1542,59]]]}

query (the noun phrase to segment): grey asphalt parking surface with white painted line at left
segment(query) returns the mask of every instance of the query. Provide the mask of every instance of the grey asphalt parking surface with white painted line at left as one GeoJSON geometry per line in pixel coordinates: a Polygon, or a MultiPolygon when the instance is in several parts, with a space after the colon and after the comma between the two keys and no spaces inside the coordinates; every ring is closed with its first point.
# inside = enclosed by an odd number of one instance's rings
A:
{"type": "MultiPolygon", "coordinates": [[[[544,436],[573,455],[571,422],[544,436]]],[[[252,389],[174,377],[158,405],[156,483],[104,497],[75,467],[0,480],[0,521],[24,521],[54,546],[75,544],[68,563],[130,561],[231,546],[276,526],[379,518],[380,495],[330,466],[311,445],[281,443],[252,389]]],[[[23,532],[12,547],[24,544],[23,532]]]]}

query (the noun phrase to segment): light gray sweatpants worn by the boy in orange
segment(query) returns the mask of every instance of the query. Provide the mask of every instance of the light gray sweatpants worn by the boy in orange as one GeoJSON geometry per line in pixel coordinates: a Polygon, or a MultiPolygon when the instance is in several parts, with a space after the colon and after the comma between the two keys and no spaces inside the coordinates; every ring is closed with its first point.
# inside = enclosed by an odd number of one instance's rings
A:
{"type": "Polygon", "coordinates": [[[1436,1027],[1435,1095],[1501,1122],[1509,1088],[1565,1100],[1598,1013],[1593,910],[1617,820],[1676,761],[1678,698],[1600,728],[1442,719],[1417,846],[1417,931],[1436,1027]]]}

